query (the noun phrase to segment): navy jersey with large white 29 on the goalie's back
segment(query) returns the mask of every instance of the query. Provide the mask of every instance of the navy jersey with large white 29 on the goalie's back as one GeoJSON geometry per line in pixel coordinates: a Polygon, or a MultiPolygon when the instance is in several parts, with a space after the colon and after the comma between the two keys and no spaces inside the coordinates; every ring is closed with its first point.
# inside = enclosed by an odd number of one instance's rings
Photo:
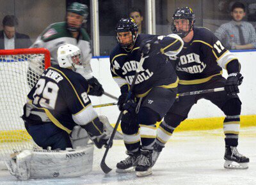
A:
{"type": "Polygon", "coordinates": [[[26,119],[36,121],[33,115],[42,112],[56,126],[70,133],[76,125],[72,115],[91,104],[87,95],[89,90],[87,81],[79,73],[60,66],[50,67],[28,94],[34,114],[27,115],[26,119]]]}

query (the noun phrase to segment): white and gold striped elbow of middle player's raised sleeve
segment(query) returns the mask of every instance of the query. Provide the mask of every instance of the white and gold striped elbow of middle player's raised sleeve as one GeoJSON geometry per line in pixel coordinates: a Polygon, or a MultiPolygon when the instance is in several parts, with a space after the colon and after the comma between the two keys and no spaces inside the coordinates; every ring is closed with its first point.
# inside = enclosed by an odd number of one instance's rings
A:
{"type": "Polygon", "coordinates": [[[182,50],[184,41],[177,34],[168,34],[168,36],[166,36],[166,37],[172,38],[173,42],[170,43],[170,45],[167,46],[166,48],[161,49],[161,52],[164,55],[169,56],[169,57],[176,56],[182,50]]]}

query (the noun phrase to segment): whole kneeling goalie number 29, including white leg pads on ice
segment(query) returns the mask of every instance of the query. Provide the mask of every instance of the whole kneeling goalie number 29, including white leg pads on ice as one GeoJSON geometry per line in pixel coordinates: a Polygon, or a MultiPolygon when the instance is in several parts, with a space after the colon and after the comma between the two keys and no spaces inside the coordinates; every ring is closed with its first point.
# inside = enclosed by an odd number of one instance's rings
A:
{"type": "MultiPolygon", "coordinates": [[[[108,118],[92,107],[81,50],[70,44],[58,48],[58,65],[44,71],[24,105],[25,127],[42,150],[15,152],[6,161],[17,179],[78,177],[92,170],[93,144],[108,144],[113,129],[108,118]],[[88,141],[92,140],[92,144],[88,141]]],[[[117,133],[118,138],[122,138],[117,133]]]]}

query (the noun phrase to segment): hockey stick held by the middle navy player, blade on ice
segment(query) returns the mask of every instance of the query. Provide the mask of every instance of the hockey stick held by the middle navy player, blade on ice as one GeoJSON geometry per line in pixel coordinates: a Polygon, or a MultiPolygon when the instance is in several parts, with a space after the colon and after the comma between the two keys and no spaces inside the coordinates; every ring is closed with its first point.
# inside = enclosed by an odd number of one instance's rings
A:
{"type": "MultiPolygon", "coordinates": [[[[133,80],[132,80],[132,84],[131,84],[130,91],[129,91],[127,97],[125,98],[125,102],[127,102],[127,100],[129,100],[129,98],[130,98],[130,96],[131,96],[132,90],[133,90],[133,88],[134,88],[134,84],[135,84],[135,82],[136,82],[136,80],[137,80],[137,77],[138,77],[138,75],[139,75],[139,73],[140,73],[140,71],[141,71],[141,69],[142,69],[142,65],[143,65],[143,63],[144,63],[144,60],[145,60],[145,58],[147,58],[147,57],[148,57],[148,56],[146,56],[146,57],[143,57],[143,55],[141,56],[140,63],[139,63],[138,68],[137,68],[137,70],[136,70],[136,74],[135,74],[135,76],[134,76],[134,78],[133,78],[133,80]]],[[[124,110],[122,110],[122,111],[120,112],[119,116],[118,116],[118,119],[117,119],[117,121],[116,121],[115,128],[113,129],[113,132],[112,132],[112,134],[111,134],[111,137],[110,137],[109,140],[108,140],[108,145],[106,146],[106,151],[104,152],[104,156],[103,156],[103,158],[102,158],[102,160],[101,160],[101,163],[100,163],[100,168],[102,169],[102,171],[103,171],[105,174],[108,174],[108,173],[112,170],[111,168],[109,168],[108,165],[106,165],[106,161],[105,161],[105,160],[106,160],[106,156],[107,156],[107,154],[108,154],[108,151],[109,151],[110,147],[111,147],[112,144],[113,144],[113,138],[114,138],[114,136],[115,136],[116,129],[118,128],[118,125],[119,125],[119,123],[120,123],[120,121],[121,121],[121,119],[122,119],[123,114],[124,114],[124,110]]]]}

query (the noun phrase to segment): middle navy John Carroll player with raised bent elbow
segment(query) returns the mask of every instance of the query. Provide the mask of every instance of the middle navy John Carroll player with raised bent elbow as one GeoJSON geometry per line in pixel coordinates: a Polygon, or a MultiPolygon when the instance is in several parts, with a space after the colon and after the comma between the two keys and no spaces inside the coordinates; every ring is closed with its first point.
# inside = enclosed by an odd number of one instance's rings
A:
{"type": "Polygon", "coordinates": [[[156,138],[155,124],[161,121],[175,101],[179,81],[167,56],[178,54],[183,41],[177,34],[138,34],[138,26],[132,18],[122,18],[115,31],[118,45],[110,55],[111,74],[121,91],[118,107],[126,110],[121,128],[129,156],[117,163],[116,172],[126,172],[136,166],[136,175],[150,175],[156,138]],[[149,57],[143,63],[143,70],[138,75],[131,98],[124,102],[141,53],[149,57]]]}

